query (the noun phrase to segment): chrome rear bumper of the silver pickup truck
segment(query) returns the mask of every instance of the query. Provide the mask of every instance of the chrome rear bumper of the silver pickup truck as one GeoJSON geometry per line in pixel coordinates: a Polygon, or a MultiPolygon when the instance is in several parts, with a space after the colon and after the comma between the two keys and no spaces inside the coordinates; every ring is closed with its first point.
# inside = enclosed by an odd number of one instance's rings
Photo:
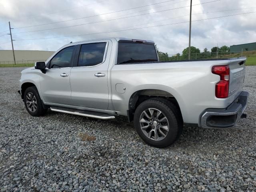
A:
{"type": "Polygon", "coordinates": [[[249,93],[241,94],[226,109],[208,109],[201,116],[202,128],[228,128],[236,124],[246,109],[249,93]]]}

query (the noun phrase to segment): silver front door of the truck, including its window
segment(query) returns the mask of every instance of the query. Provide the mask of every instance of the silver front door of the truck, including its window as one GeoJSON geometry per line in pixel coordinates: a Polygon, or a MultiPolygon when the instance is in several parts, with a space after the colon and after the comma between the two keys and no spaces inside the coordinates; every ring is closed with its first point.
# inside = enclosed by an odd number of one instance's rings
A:
{"type": "Polygon", "coordinates": [[[60,50],[51,60],[45,74],[40,76],[42,96],[46,103],[72,105],[70,70],[76,46],[60,50]]]}

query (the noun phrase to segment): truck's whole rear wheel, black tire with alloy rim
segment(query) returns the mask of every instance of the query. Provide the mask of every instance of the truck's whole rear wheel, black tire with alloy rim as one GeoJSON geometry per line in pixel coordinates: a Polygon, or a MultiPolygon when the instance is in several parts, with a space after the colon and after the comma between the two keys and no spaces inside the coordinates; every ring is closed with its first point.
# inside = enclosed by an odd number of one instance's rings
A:
{"type": "Polygon", "coordinates": [[[134,126],[148,145],[164,148],[178,139],[183,121],[180,111],[172,102],[163,98],[152,98],[136,108],[134,126]]]}

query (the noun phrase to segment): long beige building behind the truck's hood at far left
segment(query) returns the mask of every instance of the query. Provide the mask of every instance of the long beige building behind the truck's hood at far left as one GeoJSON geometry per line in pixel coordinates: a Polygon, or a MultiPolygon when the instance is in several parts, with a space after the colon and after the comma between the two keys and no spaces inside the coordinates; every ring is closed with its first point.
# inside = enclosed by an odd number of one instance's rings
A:
{"type": "MultiPolygon", "coordinates": [[[[16,64],[46,61],[54,51],[14,50],[16,64]]],[[[14,64],[12,50],[0,50],[0,64],[14,64]]]]}

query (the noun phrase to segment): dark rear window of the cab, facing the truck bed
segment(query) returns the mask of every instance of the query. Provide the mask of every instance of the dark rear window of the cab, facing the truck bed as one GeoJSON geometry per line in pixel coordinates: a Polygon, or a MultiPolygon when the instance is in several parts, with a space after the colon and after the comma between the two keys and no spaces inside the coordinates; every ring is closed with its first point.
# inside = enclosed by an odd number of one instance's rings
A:
{"type": "Polygon", "coordinates": [[[154,45],[118,43],[117,64],[158,61],[154,45]]]}

